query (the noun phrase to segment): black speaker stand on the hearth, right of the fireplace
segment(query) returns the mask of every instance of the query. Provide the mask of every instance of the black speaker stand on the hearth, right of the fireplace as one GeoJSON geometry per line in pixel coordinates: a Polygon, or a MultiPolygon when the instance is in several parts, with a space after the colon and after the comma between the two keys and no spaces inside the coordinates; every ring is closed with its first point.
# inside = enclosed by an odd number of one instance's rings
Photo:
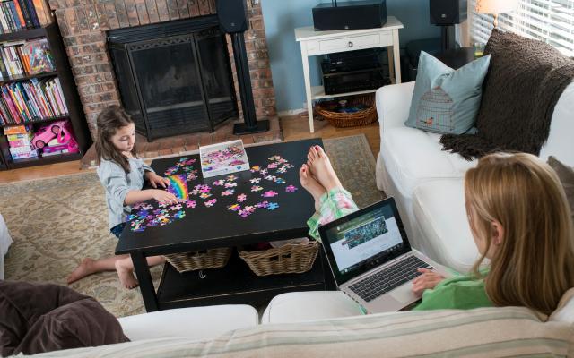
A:
{"type": "Polygon", "coordinates": [[[253,101],[253,90],[251,88],[251,77],[249,76],[248,53],[245,48],[245,38],[243,32],[233,32],[230,34],[233,56],[235,57],[235,68],[237,70],[237,81],[239,84],[239,96],[241,97],[241,108],[243,109],[242,124],[233,125],[233,134],[249,134],[269,131],[269,121],[259,121],[255,112],[253,101]]]}

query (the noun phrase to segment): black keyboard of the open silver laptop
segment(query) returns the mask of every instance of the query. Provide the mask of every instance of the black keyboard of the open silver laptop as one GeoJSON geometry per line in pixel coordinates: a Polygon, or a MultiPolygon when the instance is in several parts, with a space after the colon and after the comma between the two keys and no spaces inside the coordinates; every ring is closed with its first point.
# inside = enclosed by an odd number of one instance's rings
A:
{"type": "Polygon", "coordinates": [[[432,269],[432,266],[416,256],[409,256],[389,268],[382,269],[370,277],[352,284],[349,288],[355,294],[359,294],[363,300],[370,302],[421,275],[417,268],[432,269]]]}

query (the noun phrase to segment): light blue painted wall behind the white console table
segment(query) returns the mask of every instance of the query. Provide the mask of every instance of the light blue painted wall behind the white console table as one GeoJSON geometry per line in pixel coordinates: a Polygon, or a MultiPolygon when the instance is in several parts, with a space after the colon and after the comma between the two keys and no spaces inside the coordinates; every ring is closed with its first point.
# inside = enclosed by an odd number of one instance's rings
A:
{"type": "MultiPolygon", "coordinates": [[[[305,102],[303,66],[295,28],[311,26],[311,9],[320,0],[260,0],[277,111],[299,109],[305,102]]],[[[399,30],[401,47],[418,38],[438,38],[440,30],[429,22],[429,0],[387,0],[387,13],[404,24],[399,30]]],[[[311,57],[311,84],[320,83],[319,56],[311,57]]]]}

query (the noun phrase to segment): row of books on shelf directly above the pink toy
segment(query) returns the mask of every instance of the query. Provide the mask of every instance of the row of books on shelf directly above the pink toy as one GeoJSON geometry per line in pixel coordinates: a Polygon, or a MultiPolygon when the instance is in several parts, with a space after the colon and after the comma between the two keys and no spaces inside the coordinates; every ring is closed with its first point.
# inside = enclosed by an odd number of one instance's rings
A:
{"type": "Polygon", "coordinates": [[[57,77],[0,86],[0,124],[22,124],[67,115],[57,77]]]}

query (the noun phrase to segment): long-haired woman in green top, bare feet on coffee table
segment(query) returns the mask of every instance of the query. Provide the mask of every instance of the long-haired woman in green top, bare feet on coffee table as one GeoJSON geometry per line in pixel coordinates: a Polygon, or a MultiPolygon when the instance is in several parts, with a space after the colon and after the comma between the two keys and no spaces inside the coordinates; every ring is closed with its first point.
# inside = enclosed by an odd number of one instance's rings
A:
{"type": "MultiPolygon", "coordinates": [[[[323,149],[309,150],[301,185],[315,198],[309,234],[356,210],[323,149]]],[[[465,205],[481,258],[468,276],[421,269],[415,310],[526,306],[550,314],[574,287],[574,228],[566,194],[552,168],[530,154],[491,154],[465,175],[465,205]],[[479,272],[484,259],[487,268],[479,272]]]]}

